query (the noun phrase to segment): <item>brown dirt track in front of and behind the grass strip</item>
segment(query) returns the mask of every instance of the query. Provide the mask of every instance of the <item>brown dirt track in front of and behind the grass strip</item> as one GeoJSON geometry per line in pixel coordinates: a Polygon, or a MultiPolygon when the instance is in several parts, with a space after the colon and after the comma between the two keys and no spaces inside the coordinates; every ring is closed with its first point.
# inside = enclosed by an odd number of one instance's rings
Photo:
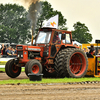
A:
{"type": "MultiPolygon", "coordinates": [[[[0,73],[9,79],[5,73],[0,73]]],[[[17,79],[27,78],[22,73],[17,79]]],[[[100,83],[0,85],[0,100],[100,100],[100,83]]]]}

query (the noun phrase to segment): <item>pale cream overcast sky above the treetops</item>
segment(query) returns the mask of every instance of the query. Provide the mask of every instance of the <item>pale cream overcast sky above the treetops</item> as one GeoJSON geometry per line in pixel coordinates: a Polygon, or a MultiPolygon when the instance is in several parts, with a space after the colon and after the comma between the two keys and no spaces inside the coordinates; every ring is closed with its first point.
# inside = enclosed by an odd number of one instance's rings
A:
{"type": "MultiPolygon", "coordinates": [[[[0,3],[17,3],[23,6],[26,4],[22,0],[0,0],[0,3]]],[[[60,11],[64,18],[67,19],[69,31],[74,30],[73,25],[80,21],[84,23],[95,43],[100,39],[100,0],[47,0],[54,10],[60,11]]]]}

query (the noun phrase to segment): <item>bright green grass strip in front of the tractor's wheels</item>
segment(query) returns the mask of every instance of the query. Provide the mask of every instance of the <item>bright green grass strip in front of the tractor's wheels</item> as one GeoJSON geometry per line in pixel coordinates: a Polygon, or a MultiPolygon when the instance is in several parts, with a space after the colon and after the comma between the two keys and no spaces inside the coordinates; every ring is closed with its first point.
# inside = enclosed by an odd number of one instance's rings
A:
{"type": "Polygon", "coordinates": [[[0,84],[42,84],[42,83],[67,83],[67,82],[85,82],[85,81],[100,81],[100,78],[95,77],[85,77],[85,78],[59,78],[50,79],[43,78],[42,81],[30,81],[29,79],[10,79],[10,80],[0,80],[0,84]]]}

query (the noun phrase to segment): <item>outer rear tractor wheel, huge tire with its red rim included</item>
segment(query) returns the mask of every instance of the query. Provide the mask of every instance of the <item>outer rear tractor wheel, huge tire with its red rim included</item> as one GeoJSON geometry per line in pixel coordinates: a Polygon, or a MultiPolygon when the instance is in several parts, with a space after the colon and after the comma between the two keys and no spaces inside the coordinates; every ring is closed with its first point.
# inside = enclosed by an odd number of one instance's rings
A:
{"type": "Polygon", "coordinates": [[[72,78],[81,78],[86,75],[88,69],[88,58],[85,52],[79,48],[67,50],[64,57],[64,68],[66,73],[72,78]]]}

